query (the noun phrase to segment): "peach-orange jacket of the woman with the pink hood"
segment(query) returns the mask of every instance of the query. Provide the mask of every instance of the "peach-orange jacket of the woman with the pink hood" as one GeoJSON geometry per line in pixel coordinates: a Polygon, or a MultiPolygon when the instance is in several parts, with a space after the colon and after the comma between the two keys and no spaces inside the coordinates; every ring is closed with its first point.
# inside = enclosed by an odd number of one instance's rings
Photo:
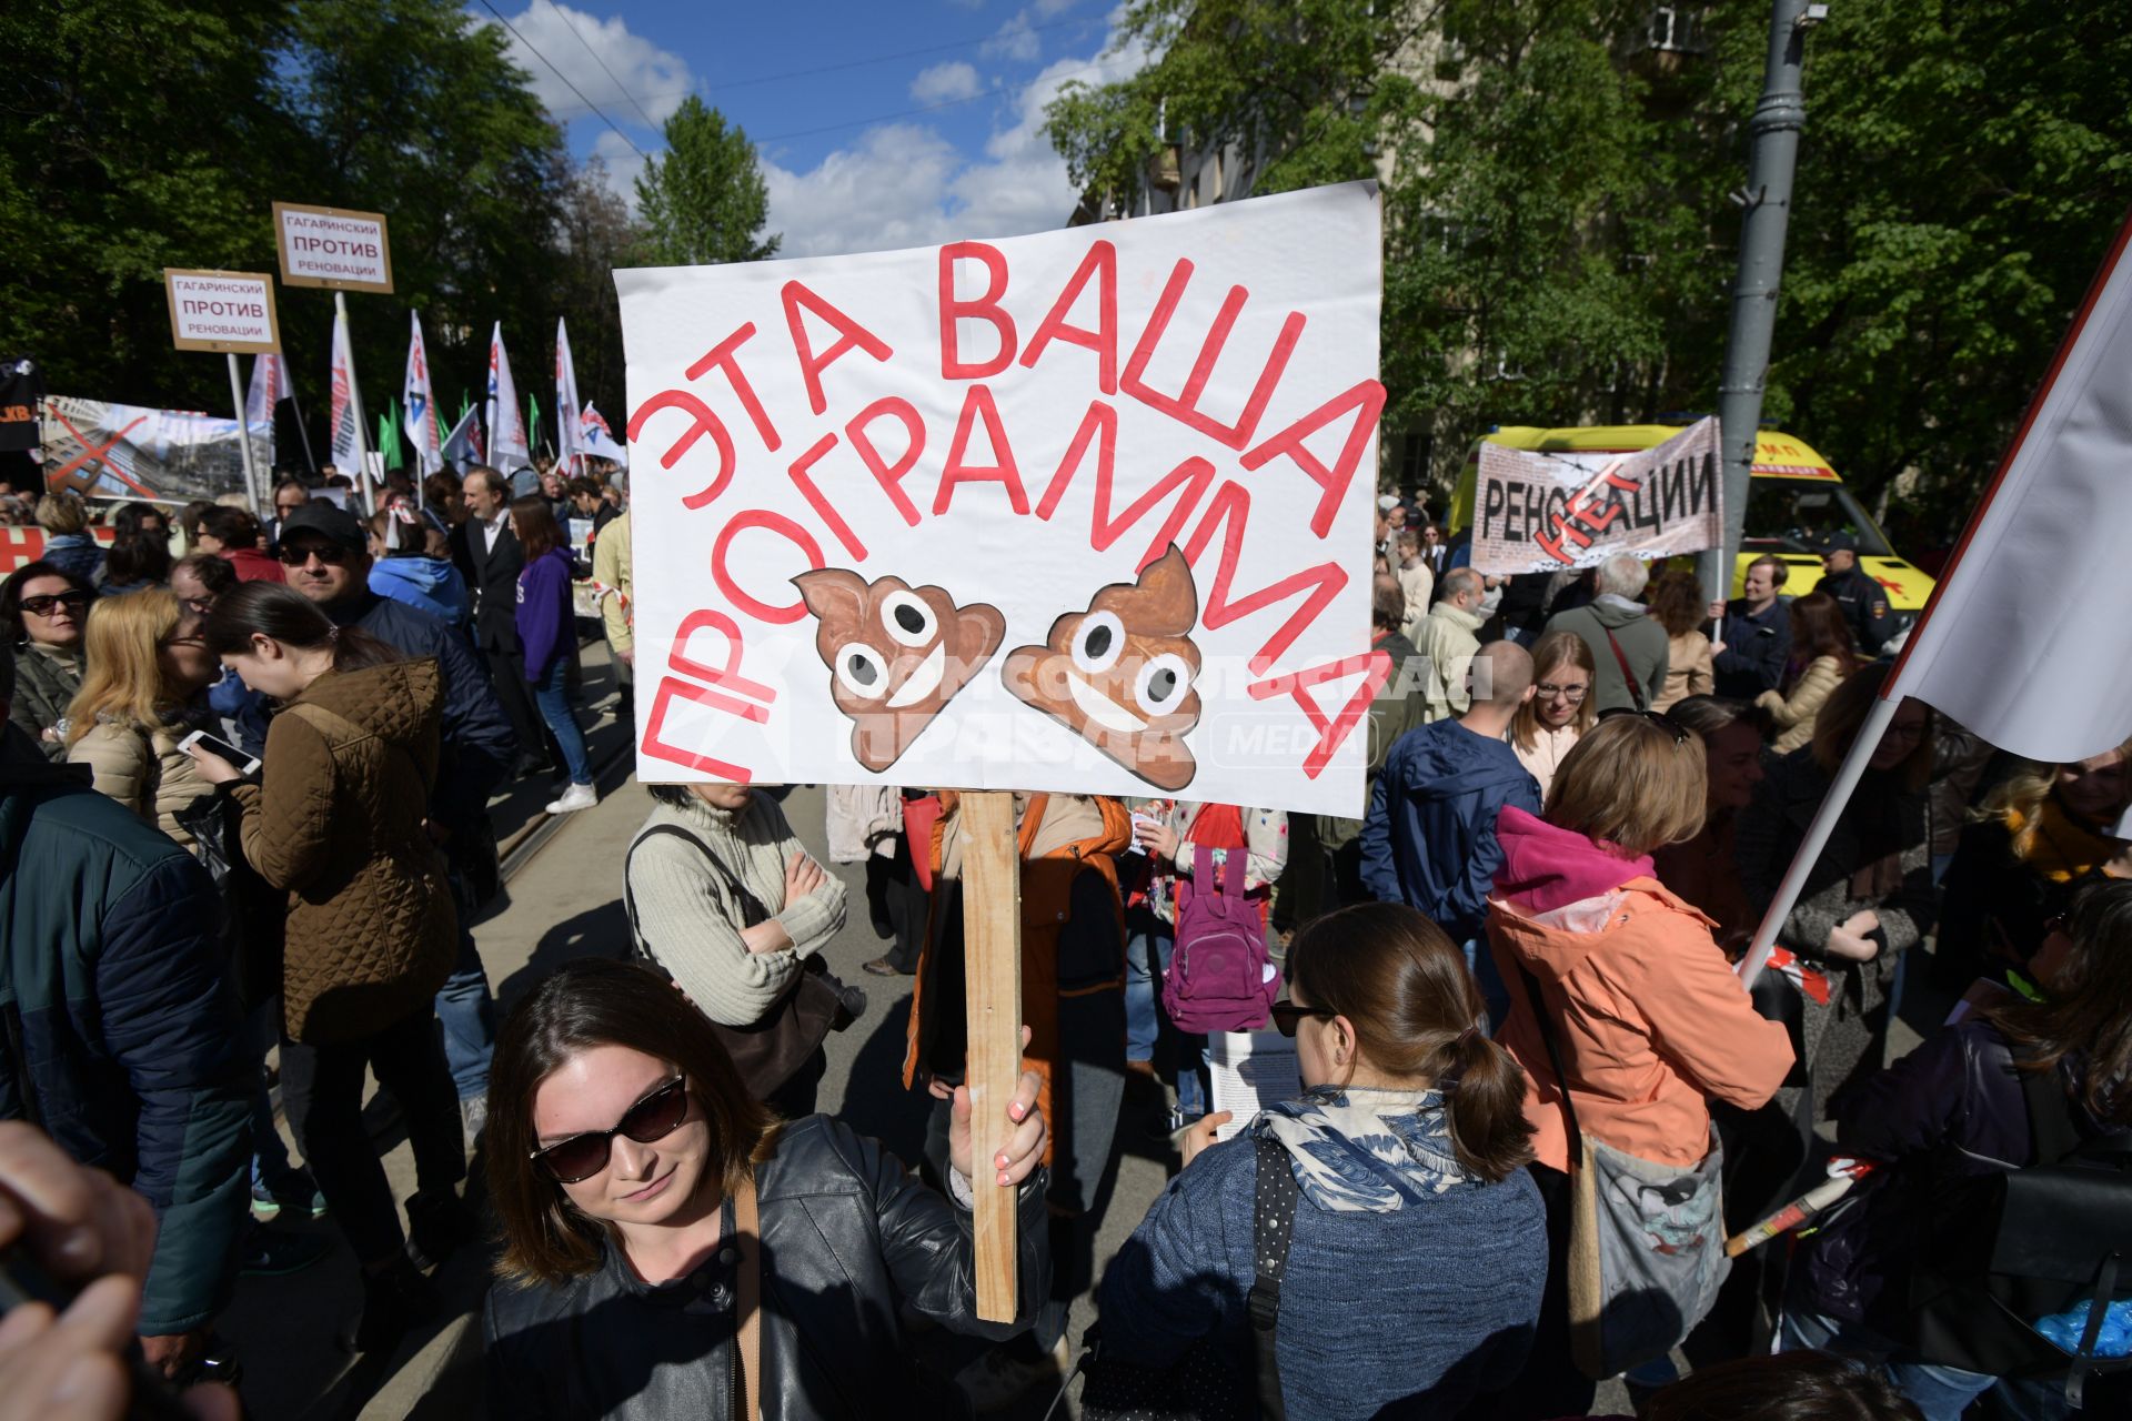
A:
{"type": "Polygon", "coordinates": [[[1654,878],[1631,878],[1620,893],[1593,933],[1488,903],[1488,942],[1509,984],[1497,1040],[1524,1067],[1533,1150],[1554,1170],[1569,1167],[1569,1129],[1520,967],[1539,980],[1578,1127],[1640,1159],[1697,1163],[1710,1150],[1706,1097],[1755,1110],[1791,1069],[1784,1027],[1755,1014],[1710,940],[1712,920],[1654,878]]]}

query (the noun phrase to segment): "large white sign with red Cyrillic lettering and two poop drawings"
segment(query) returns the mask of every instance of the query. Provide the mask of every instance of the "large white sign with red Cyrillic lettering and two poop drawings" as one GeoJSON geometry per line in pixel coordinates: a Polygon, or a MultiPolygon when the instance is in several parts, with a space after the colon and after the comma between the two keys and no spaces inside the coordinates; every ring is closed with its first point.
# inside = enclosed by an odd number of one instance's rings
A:
{"type": "Polygon", "coordinates": [[[1373,183],[620,271],[637,773],[1362,812],[1373,183]]]}

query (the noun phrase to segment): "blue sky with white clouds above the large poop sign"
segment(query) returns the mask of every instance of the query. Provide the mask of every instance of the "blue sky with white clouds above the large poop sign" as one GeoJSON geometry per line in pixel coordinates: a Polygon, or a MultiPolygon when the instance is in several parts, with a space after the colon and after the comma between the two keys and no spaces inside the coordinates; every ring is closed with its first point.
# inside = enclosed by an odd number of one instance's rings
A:
{"type": "Polygon", "coordinates": [[[631,143],[655,153],[689,94],[738,121],[761,151],[780,256],[1064,226],[1075,192],[1043,104],[1068,79],[1141,62],[1104,58],[1115,0],[495,4],[571,151],[603,158],[625,196],[644,162],[631,143]]]}

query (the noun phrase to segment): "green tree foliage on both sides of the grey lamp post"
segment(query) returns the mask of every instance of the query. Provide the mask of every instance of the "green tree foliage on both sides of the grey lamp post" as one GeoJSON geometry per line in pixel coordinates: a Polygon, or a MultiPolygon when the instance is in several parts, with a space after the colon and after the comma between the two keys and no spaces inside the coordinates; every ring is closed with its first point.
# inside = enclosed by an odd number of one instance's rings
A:
{"type": "MultiPolygon", "coordinates": [[[[1671,6],[1686,51],[1652,9],[1138,0],[1119,45],[1156,62],[1066,85],[1049,134],[1128,207],[1177,136],[1254,158],[1254,192],[1382,175],[1386,430],[1441,484],[1492,424],[1716,407],[1770,9],[1671,6]]],[[[2132,202],[2132,28],[1842,0],[1806,104],[1767,418],[1944,535],[2132,202]]]]}

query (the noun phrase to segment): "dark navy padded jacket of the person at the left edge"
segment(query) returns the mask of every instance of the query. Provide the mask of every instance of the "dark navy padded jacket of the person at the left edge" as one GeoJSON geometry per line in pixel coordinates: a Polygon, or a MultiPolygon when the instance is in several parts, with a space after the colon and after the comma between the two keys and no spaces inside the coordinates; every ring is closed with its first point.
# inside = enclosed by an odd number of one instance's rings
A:
{"type": "Polygon", "coordinates": [[[222,899],[192,854],[15,726],[0,744],[0,1116],[41,1125],[160,1221],[139,1332],[228,1302],[252,1091],[222,899]],[[19,1035],[17,1035],[19,1031],[19,1035]]]}

